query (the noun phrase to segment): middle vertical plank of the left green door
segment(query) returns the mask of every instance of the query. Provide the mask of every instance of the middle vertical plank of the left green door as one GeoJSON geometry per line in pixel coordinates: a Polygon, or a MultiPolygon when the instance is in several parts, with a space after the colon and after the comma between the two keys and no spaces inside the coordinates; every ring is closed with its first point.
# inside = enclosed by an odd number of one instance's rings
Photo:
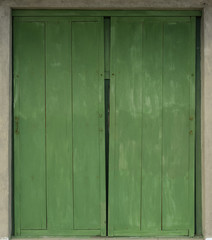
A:
{"type": "Polygon", "coordinates": [[[46,151],[49,230],[73,229],[71,24],[46,23],[46,151]]]}

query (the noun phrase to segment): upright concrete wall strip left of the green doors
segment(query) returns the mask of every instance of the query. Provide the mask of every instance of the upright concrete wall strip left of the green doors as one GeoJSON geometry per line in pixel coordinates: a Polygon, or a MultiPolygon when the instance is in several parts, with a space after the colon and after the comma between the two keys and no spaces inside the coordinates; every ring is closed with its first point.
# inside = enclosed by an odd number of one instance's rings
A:
{"type": "Polygon", "coordinates": [[[10,11],[0,8],[0,237],[10,232],[10,11]]]}

